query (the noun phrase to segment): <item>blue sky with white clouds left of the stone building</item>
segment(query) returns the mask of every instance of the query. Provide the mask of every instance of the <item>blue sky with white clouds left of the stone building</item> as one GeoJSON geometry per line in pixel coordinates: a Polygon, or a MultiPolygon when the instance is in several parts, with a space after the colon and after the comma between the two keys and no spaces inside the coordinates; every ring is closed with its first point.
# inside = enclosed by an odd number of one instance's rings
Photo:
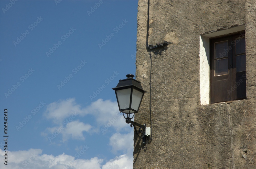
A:
{"type": "Polygon", "coordinates": [[[132,168],[111,88],[135,74],[137,3],[0,1],[0,168],[132,168]]]}

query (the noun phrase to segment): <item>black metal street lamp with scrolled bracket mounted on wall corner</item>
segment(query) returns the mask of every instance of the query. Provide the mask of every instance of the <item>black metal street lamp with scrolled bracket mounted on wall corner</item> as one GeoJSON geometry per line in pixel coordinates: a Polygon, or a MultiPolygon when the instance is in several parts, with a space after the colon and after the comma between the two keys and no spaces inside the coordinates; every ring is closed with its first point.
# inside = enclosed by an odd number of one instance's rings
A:
{"type": "Polygon", "coordinates": [[[134,114],[138,112],[143,95],[146,91],[143,90],[141,82],[133,79],[133,74],[127,74],[126,77],[127,79],[120,80],[118,85],[112,89],[115,90],[118,107],[120,112],[123,113],[125,122],[127,124],[131,123],[131,127],[135,129],[135,133],[138,137],[143,138],[143,144],[146,144],[146,137],[150,136],[151,132],[150,127],[146,127],[146,124],[141,125],[131,120],[134,114]],[[126,114],[126,117],[124,114],[126,114]],[[130,118],[130,114],[133,114],[132,118],[130,118]],[[140,127],[139,132],[142,133],[142,136],[138,134],[135,125],[140,127]]]}

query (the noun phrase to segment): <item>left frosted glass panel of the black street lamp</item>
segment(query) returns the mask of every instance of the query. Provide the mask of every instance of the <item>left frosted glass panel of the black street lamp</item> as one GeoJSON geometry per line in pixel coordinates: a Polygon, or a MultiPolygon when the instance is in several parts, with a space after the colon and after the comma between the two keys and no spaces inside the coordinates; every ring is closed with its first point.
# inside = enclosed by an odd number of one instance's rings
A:
{"type": "Polygon", "coordinates": [[[116,95],[118,98],[120,109],[129,109],[130,97],[131,97],[131,88],[116,90],[116,95]]]}

